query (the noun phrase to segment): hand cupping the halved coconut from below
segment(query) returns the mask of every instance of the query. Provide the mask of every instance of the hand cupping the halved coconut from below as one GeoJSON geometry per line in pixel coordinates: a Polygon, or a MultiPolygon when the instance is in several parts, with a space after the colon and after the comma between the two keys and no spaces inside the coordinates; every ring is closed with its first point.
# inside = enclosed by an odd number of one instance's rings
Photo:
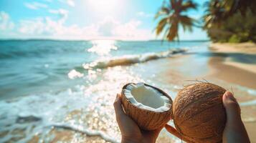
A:
{"type": "Polygon", "coordinates": [[[131,117],[128,117],[128,115],[123,111],[120,94],[117,94],[113,105],[115,108],[116,121],[118,122],[118,127],[122,134],[122,143],[156,142],[156,138],[158,137],[162,127],[153,131],[140,129],[136,122],[134,122],[131,117]]]}

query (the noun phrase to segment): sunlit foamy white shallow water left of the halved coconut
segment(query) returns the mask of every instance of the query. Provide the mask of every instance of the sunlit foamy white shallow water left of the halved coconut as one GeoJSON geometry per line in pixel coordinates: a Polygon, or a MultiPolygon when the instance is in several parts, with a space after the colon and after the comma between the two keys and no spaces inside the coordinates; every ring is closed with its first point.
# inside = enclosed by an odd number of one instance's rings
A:
{"type": "Polygon", "coordinates": [[[16,142],[29,142],[35,135],[39,135],[39,142],[51,142],[54,139],[52,127],[120,142],[118,125],[113,122],[115,94],[126,82],[144,81],[120,67],[102,74],[99,82],[92,79],[93,84],[89,78],[92,75],[88,75],[86,87],[77,85],[65,91],[0,101],[0,133],[7,132],[0,142],[21,137],[21,134],[12,134],[17,129],[24,132],[24,137],[16,142]]]}

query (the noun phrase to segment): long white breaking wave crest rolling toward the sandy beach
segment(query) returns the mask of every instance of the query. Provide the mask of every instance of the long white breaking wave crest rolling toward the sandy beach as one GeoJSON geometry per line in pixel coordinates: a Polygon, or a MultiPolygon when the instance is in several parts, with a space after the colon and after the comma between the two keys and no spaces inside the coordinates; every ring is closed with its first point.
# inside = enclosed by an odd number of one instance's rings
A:
{"type": "Polygon", "coordinates": [[[167,58],[174,54],[182,54],[186,51],[186,49],[171,49],[169,51],[162,51],[158,53],[117,56],[110,59],[99,59],[91,63],[83,64],[82,66],[85,69],[103,69],[111,66],[125,66],[130,64],[143,63],[155,59],[167,58]]]}

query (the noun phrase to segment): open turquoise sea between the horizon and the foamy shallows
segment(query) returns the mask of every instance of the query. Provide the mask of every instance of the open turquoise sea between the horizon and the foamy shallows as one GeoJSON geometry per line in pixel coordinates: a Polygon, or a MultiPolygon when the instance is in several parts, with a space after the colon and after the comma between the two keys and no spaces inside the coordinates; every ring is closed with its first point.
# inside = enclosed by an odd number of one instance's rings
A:
{"type": "Polygon", "coordinates": [[[98,59],[202,45],[161,41],[0,41],[0,99],[57,92],[80,84],[84,80],[70,80],[67,74],[72,69],[87,74],[82,64],[98,59]],[[95,52],[89,50],[92,47],[95,52]]]}

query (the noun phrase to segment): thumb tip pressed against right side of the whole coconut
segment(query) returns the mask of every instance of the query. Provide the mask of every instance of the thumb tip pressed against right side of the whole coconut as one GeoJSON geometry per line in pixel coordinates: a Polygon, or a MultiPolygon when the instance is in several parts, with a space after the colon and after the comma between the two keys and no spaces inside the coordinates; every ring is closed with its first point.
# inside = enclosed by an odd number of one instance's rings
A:
{"type": "Polygon", "coordinates": [[[234,119],[240,119],[240,106],[237,103],[237,99],[234,98],[231,92],[225,92],[222,97],[223,105],[227,113],[227,121],[234,119]]]}

